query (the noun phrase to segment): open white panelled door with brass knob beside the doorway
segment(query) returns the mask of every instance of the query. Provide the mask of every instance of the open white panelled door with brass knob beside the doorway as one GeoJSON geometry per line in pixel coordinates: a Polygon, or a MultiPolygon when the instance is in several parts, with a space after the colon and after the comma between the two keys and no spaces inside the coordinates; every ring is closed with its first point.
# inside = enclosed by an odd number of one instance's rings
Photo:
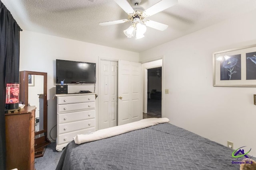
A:
{"type": "Polygon", "coordinates": [[[118,61],[118,125],[141,120],[141,64],[118,61]]]}

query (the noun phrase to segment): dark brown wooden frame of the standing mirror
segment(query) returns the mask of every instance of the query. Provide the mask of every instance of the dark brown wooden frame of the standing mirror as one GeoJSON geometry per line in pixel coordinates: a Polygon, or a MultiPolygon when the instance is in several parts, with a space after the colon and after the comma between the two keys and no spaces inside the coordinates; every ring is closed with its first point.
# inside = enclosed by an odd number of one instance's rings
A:
{"type": "Polygon", "coordinates": [[[47,73],[34,71],[20,71],[20,101],[28,106],[28,74],[44,76],[44,127],[43,130],[35,131],[35,135],[44,135],[47,137],[47,73]]]}

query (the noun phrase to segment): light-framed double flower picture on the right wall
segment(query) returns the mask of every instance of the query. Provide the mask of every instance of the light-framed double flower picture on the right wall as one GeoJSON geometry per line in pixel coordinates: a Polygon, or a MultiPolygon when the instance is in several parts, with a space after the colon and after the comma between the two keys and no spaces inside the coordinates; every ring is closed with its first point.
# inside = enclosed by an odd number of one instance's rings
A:
{"type": "Polygon", "coordinates": [[[256,44],[213,53],[214,87],[256,87],[256,44]]]}

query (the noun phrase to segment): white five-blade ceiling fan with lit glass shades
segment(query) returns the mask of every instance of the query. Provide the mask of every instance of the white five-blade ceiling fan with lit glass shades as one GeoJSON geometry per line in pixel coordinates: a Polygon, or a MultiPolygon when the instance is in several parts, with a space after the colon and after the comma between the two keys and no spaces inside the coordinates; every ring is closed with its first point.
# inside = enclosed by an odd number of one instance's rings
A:
{"type": "Polygon", "coordinates": [[[140,39],[144,37],[144,33],[146,32],[146,26],[152,27],[154,29],[158,29],[160,31],[164,31],[168,25],[159,23],[156,21],[146,19],[149,16],[152,16],[158,12],[166,10],[171,6],[178,3],[178,0],[161,0],[160,2],[154,4],[150,8],[144,10],[143,7],[139,6],[141,0],[131,0],[134,7],[130,6],[127,0],[114,0],[127,14],[128,20],[116,20],[116,21],[107,21],[99,23],[101,26],[106,25],[114,25],[118,23],[126,23],[128,21],[132,21],[132,25],[128,27],[128,29],[124,30],[124,34],[128,37],[136,37],[136,39],[140,39]],[[146,25],[146,26],[145,26],[146,25]]]}

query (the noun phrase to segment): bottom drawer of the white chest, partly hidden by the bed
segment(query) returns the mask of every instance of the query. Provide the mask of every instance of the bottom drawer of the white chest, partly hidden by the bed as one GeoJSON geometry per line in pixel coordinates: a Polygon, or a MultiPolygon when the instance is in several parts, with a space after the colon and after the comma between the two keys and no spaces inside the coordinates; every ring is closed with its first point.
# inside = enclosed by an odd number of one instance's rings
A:
{"type": "Polygon", "coordinates": [[[80,131],[74,131],[74,132],[58,135],[58,145],[72,141],[73,138],[76,137],[76,135],[92,133],[94,131],[95,131],[95,127],[92,127],[88,129],[82,129],[80,131]]]}

